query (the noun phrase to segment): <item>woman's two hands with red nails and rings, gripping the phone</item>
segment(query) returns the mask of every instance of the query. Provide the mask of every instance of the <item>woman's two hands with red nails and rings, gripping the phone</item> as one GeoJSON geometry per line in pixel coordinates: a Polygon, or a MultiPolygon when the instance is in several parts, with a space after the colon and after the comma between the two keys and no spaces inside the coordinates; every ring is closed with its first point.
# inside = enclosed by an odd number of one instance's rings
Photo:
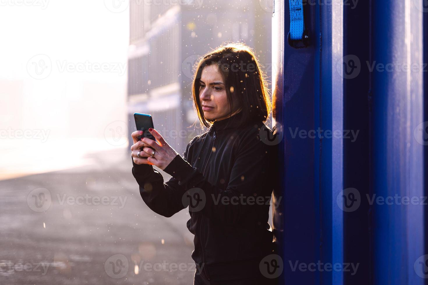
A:
{"type": "Polygon", "coordinates": [[[156,165],[164,170],[178,153],[166,143],[157,130],[150,128],[149,132],[155,137],[156,141],[150,138],[142,138],[141,141],[138,141],[138,136],[143,132],[136,131],[132,133],[132,139],[134,140],[134,144],[131,146],[132,159],[135,164],[156,165]],[[141,147],[143,147],[143,151],[140,151],[141,147]],[[150,147],[155,150],[153,157],[151,157],[153,150],[150,147]],[[138,157],[138,152],[140,152],[140,157],[138,157]]]}

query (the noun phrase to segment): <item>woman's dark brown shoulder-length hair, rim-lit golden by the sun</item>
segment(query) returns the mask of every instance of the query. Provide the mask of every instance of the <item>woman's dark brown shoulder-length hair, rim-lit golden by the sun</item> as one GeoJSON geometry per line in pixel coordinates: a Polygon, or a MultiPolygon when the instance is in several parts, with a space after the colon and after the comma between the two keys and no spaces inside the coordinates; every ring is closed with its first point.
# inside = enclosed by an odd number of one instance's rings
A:
{"type": "Polygon", "coordinates": [[[204,117],[199,99],[202,70],[212,64],[218,65],[223,77],[230,110],[233,111],[234,102],[241,105],[243,116],[239,126],[265,122],[272,111],[266,74],[261,70],[255,52],[247,45],[235,42],[223,43],[196,62],[192,95],[201,126],[209,127],[214,122],[204,117]]]}

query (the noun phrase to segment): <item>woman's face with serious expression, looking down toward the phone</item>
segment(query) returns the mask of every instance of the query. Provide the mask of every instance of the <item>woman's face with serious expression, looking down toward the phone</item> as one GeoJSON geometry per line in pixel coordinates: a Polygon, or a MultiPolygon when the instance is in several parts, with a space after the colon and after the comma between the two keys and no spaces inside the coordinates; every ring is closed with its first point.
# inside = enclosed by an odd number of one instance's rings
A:
{"type": "MultiPolygon", "coordinates": [[[[199,80],[199,99],[204,112],[204,117],[208,120],[223,120],[229,118],[231,110],[227,102],[226,86],[224,85],[218,65],[211,64],[202,69],[199,80]]],[[[240,106],[233,102],[233,112],[235,115],[241,111],[240,106]]]]}

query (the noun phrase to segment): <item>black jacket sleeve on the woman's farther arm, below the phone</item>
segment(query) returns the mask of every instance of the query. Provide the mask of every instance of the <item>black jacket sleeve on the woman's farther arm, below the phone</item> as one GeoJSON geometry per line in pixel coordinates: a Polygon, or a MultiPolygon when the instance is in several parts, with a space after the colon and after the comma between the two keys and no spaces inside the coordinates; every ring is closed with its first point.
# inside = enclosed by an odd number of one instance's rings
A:
{"type": "MultiPolygon", "coordinates": [[[[189,146],[190,143],[187,144],[184,151],[184,158],[187,158],[189,146]]],[[[179,154],[177,156],[181,158],[179,154]]],[[[152,165],[137,165],[133,159],[132,165],[132,174],[140,186],[140,195],[144,203],[153,212],[165,217],[171,217],[185,208],[182,203],[182,197],[186,190],[183,185],[178,184],[178,179],[171,177],[169,181],[163,183],[162,174],[155,170],[152,165]]]]}

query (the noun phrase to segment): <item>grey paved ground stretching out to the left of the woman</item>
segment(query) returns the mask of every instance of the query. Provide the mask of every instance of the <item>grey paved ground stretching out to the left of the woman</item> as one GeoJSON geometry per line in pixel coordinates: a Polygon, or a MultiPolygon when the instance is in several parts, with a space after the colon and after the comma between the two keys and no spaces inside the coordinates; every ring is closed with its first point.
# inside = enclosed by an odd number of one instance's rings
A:
{"type": "Polygon", "coordinates": [[[0,181],[0,284],[193,284],[187,209],[153,213],[124,153],[91,159],[0,181]]]}

